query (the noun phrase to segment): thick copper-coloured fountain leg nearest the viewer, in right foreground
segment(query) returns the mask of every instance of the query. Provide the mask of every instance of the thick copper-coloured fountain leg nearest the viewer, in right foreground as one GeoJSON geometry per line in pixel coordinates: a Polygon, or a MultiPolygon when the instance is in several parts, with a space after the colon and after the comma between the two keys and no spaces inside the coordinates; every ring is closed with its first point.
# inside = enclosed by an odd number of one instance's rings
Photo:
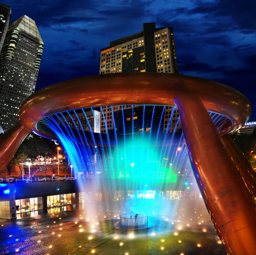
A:
{"type": "Polygon", "coordinates": [[[256,251],[256,205],[201,99],[175,97],[192,169],[212,223],[229,255],[256,251]]]}

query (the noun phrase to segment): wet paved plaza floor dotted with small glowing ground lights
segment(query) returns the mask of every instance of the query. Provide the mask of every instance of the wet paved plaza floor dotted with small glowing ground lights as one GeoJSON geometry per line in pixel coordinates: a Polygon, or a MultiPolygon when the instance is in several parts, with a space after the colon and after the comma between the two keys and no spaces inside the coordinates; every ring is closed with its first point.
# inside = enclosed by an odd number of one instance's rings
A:
{"type": "MultiPolygon", "coordinates": [[[[116,203],[115,210],[122,210],[119,205],[116,203]]],[[[180,204],[175,211],[175,220],[168,220],[163,215],[151,217],[156,226],[140,231],[113,229],[111,226],[119,215],[113,211],[109,213],[107,209],[101,210],[105,212],[102,212],[102,217],[98,214],[94,223],[86,219],[88,210],[84,209],[1,222],[0,254],[227,254],[202,203],[198,207],[193,203],[180,204]]],[[[122,211],[118,212],[121,215],[122,211]]]]}

